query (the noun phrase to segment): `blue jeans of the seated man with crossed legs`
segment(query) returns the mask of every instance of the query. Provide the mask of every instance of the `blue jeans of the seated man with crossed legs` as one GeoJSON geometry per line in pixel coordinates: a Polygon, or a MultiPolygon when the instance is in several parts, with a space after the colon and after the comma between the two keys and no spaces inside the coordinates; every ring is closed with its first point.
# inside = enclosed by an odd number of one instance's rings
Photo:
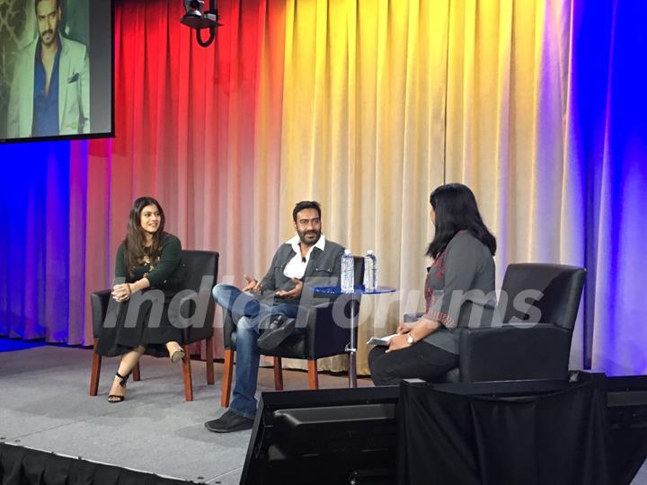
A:
{"type": "Polygon", "coordinates": [[[236,372],[230,410],[246,418],[256,415],[256,383],[261,358],[257,340],[259,322],[271,314],[297,318],[297,304],[265,304],[231,285],[217,285],[212,293],[217,304],[232,313],[236,322],[236,372]]]}

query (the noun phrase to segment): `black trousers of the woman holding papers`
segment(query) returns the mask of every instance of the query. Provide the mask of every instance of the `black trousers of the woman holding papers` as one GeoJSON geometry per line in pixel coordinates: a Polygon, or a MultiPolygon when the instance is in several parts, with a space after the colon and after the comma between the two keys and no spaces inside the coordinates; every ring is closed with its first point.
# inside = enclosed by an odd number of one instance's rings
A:
{"type": "Polygon", "coordinates": [[[458,366],[458,356],[424,340],[386,353],[386,347],[368,353],[371,378],[376,385],[399,385],[403,379],[433,381],[458,366]]]}

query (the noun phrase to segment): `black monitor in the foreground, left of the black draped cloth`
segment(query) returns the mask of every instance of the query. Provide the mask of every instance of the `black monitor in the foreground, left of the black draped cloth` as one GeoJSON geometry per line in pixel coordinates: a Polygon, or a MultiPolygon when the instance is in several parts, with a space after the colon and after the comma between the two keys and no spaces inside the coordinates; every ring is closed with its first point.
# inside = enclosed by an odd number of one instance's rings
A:
{"type": "Polygon", "coordinates": [[[398,387],[262,392],[241,484],[396,481],[398,387]]]}

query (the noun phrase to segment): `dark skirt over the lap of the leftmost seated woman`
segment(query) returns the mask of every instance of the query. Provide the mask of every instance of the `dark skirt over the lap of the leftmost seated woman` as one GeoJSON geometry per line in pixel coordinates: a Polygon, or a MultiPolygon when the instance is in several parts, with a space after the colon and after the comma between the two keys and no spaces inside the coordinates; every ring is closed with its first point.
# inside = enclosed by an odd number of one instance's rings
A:
{"type": "Polygon", "coordinates": [[[147,355],[168,357],[164,344],[182,340],[182,329],[173,325],[173,315],[169,317],[169,305],[176,294],[175,288],[149,288],[126,302],[112,300],[99,332],[97,353],[115,357],[143,346],[147,355]]]}

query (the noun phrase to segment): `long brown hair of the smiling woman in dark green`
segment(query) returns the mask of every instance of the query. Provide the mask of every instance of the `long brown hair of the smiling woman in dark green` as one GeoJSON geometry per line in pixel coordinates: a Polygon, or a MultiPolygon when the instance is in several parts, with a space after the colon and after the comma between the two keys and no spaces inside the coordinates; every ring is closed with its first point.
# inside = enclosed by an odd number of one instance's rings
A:
{"type": "Polygon", "coordinates": [[[129,224],[124,239],[124,259],[126,268],[131,273],[132,269],[141,264],[142,259],[147,255],[151,261],[155,261],[162,253],[162,242],[166,233],[164,233],[164,209],[160,203],[152,197],[140,197],[133,202],[130,210],[129,224]],[[141,213],[146,206],[155,206],[160,211],[160,225],[155,234],[153,234],[153,243],[146,247],[146,231],[141,226],[141,213]]]}

